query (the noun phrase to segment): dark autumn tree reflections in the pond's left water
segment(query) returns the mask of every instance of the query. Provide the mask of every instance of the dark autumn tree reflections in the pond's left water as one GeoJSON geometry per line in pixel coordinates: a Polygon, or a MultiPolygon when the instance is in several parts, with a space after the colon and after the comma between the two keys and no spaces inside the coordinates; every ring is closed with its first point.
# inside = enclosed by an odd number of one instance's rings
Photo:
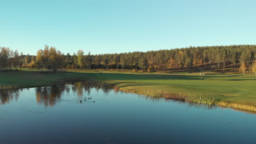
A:
{"type": "MultiPolygon", "coordinates": [[[[63,92],[77,92],[78,97],[82,97],[84,93],[90,95],[91,88],[95,88],[96,91],[102,89],[103,92],[109,93],[111,86],[106,83],[94,83],[94,82],[75,82],[75,83],[59,83],[52,86],[37,87],[36,100],[38,104],[44,104],[44,106],[54,106],[57,101],[60,101],[63,92]]],[[[27,90],[30,88],[27,88],[27,90]]],[[[12,100],[18,100],[19,94],[22,89],[12,89],[0,91],[0,105],[8,104],[12,100]]],[[[115,91],[117,92],[117,91],[115,91]]]]}

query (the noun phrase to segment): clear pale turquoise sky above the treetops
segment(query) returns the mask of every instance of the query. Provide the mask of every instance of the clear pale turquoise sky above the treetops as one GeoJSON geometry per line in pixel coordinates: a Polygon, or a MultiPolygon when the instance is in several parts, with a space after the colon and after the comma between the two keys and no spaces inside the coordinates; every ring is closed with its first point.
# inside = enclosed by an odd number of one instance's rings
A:
{"type": "Polygon", "coordinates": [[[92,54],[256,43],[256,1],[0,0],[0,46],[92,54]]]}

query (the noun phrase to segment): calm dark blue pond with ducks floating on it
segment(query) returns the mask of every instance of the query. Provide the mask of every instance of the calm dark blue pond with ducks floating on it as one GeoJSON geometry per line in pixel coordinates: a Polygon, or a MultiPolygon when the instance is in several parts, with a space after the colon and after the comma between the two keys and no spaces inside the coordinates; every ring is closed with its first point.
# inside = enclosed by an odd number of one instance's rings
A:
{"type": "Polygon", "coordinates": [[[54,85],[0,99],[0,143],[256,143],[253,113],[108,87],[54,85]]]}

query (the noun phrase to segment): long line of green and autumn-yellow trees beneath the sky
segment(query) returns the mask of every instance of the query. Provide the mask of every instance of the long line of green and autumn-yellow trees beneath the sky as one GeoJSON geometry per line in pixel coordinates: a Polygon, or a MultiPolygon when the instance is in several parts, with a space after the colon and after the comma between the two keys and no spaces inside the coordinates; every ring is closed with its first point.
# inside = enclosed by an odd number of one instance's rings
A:
{"type": "Polygon", "coordinates": [[[125,52],[91,55],[79,50],[66,55],[45,45],[36,56],[19,55],[1,47],[0,68],[117,69],[117,70],[183,70],[214,69],[256,74],[256,45],[197,46],[147,52],[125,52]]]}

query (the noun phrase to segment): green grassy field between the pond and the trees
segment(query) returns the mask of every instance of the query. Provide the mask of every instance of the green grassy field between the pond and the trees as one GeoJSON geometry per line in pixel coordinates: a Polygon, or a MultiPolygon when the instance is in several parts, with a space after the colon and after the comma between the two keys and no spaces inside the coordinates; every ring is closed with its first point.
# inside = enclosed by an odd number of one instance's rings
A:
{"type": "Polygon", "coordinates": [[[49,85],[49,83],[66,78],[103,81],[126,92],[146,94],[152,97],[158,93],[168,93],[184,95],[188,98],[214,98],[223,106],[256,111],[255,75],[114,73],[96,70],[39,74],[34,70],[25,69],[0,73],[0,85],[1,89],[36,87],[49,85]]]}

